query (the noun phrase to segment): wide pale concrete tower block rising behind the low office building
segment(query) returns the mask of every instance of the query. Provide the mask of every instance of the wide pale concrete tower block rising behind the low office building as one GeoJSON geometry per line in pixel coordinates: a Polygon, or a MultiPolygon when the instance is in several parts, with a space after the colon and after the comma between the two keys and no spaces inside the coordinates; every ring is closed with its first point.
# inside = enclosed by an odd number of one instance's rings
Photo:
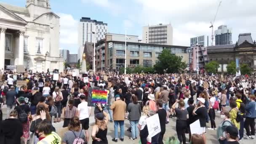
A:
{"type": "Polygon", "coordinates": [[[156,26],[143,27],[142,42],[159,45],[172,45],[173,27],[171,24],[159,24],[156,26]]]}

